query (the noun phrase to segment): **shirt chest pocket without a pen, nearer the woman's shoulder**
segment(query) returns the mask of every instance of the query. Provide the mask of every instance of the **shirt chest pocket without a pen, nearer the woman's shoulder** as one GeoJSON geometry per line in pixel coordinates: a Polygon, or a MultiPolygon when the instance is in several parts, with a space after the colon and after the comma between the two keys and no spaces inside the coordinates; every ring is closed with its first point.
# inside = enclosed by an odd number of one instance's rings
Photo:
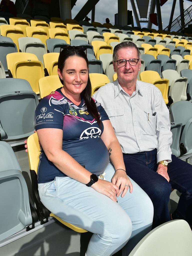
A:
{"type": "Polygon", "coordinates": [[[117,109],[109,109],[106,110],[109,119],[111,121],[111,124],[113,126],[114,132],[116,134],[120,134],[126,131],[126,125],[125,125],[125,121],[124,121],[124,114],[125,111],[124,109],[122,110],[117,110],[117,109]]]}

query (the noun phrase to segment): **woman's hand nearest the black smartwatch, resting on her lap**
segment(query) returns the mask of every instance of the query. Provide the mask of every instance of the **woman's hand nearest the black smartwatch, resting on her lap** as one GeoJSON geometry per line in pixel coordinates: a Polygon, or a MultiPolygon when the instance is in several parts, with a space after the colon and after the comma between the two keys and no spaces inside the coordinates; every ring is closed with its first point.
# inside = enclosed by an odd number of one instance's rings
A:
{"type": "Polygon", "coordinates": [[[97,192],[99,192],[105,196],[108,196],[114,202],[117,201],[116,194],[119,193],[119,187],[116,186],[115,184],[113,184],[107,180],[99,179],[91,187],[94,190],[96,190],[97,192]]]}

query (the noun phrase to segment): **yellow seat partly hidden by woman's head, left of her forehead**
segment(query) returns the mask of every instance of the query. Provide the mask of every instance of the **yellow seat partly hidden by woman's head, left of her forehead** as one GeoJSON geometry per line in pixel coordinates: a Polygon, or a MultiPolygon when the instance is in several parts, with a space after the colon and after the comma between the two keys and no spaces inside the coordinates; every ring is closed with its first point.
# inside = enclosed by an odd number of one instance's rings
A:
{"type": "Polygon", "coordinates": [[[57,75],[58,58],[58,52],[50,52],[43,55],[44,67],[47,70],[49,76],[57,75]]]}

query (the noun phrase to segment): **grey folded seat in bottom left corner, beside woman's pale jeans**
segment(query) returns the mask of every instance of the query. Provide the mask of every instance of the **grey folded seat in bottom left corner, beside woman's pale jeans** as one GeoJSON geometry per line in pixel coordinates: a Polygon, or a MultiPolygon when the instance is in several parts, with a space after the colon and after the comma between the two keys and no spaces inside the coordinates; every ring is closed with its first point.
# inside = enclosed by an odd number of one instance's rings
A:
{"type": "Polygon", "coordinates": [[[32,230],[38,216],[30,205],[27,184],[12,147],[7,142],[0,141],[0,151],[2,241],[23,229],[32,230]]]}

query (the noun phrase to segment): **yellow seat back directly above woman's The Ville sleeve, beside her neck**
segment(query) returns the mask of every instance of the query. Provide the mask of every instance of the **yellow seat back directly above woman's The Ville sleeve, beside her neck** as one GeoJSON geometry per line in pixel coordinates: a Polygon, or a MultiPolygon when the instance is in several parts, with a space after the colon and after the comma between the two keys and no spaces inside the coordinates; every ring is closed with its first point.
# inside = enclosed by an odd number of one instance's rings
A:
{"type": "Polygon", "coordinates": [[[52,91],[56,91],[58,88],[63,87],[62,83],[60,82],[59,76],[47,76],[42,77],[39,79],[39,94],[40,99],[49,95],[52,91]]]}

